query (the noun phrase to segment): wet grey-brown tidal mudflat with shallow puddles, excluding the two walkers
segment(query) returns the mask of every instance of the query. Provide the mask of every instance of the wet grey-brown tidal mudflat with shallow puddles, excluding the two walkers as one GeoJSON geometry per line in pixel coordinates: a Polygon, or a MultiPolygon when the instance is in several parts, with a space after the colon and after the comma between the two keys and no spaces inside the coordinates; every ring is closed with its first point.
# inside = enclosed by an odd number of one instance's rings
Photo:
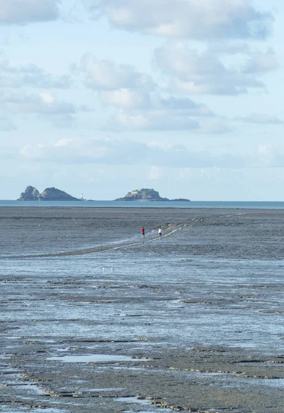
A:
{"type": "Polygon", "coordinates": [[[284,210],[0,224],[0,412],[284,412],[284,210]]]}

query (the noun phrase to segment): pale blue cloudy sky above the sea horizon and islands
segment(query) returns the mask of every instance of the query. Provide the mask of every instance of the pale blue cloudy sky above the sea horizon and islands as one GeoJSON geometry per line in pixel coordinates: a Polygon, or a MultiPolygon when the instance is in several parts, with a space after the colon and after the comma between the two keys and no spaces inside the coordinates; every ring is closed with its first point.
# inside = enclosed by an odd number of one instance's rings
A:
{"type": "Polygon", "coordinates": [[[0,0],[0,198],[284,201],[282,0],[0,0]]]}

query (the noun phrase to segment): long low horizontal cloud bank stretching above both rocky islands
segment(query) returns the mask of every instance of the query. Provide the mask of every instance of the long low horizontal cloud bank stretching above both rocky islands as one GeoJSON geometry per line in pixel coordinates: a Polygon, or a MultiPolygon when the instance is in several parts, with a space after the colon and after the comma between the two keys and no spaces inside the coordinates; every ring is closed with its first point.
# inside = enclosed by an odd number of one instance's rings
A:
{"type": "Polygon", "coordinates": [[[208,151],[188,151],[171,142],[149,144],[123,139],[58,140],[52,144],[25,145],[21,156],[41,162],[65,164],[144,165],[171,168],[241,168],[250,162],[242,156],[212,155],[208,151]]]}

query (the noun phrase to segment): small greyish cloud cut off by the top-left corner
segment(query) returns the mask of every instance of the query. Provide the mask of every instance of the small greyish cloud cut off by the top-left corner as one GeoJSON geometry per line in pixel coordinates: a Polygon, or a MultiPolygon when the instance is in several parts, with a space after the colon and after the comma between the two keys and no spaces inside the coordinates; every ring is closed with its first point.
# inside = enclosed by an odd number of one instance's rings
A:
{"type": "Polygon", "coordinates": [[[61,0],[0,0],[0,24],[25,24],[58,18],[61,0]]]}

